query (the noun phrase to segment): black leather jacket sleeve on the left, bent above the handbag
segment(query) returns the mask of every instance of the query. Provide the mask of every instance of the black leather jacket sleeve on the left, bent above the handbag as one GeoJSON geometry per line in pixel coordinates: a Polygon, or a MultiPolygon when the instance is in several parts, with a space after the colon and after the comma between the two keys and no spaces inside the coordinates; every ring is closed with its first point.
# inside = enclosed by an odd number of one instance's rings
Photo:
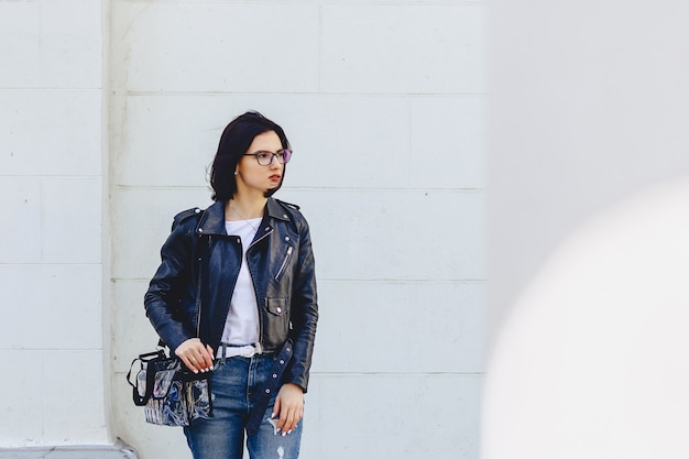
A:
{"type": "Polygon", "coordinates": [[[161,264],[144,295],[146,316],[161,339],[174,351],[196,336],[195,325],[181,306],[192,282],[194,227],[175,225],[161,249],[161,264]]]}

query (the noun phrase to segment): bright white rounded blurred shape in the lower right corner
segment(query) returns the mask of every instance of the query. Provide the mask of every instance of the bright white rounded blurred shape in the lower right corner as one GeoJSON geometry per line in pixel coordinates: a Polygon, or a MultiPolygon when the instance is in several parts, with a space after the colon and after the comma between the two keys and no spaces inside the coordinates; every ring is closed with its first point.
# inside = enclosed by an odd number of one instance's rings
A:
{"type": "Polygon", "coordinates": [[[689,177],[590,219],[512,310],[484,459],[689,457],[689,177]]]}

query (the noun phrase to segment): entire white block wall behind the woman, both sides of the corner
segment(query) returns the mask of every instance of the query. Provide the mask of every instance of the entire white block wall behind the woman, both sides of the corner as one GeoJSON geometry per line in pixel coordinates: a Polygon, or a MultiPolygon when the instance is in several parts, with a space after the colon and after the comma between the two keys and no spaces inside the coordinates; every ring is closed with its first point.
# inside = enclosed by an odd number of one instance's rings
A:
{"type": "Polygon", "coordinates": [[[123,378],[156,342],[142,296],[172,216],[210,203],[221,130],[258,109],[295,147],[278,197],[317,256],[302,457],[478,458],[483,9],[0,0],[0,358],[42,394],[2,395],[0,448],[189,456],[123,378]]]}

